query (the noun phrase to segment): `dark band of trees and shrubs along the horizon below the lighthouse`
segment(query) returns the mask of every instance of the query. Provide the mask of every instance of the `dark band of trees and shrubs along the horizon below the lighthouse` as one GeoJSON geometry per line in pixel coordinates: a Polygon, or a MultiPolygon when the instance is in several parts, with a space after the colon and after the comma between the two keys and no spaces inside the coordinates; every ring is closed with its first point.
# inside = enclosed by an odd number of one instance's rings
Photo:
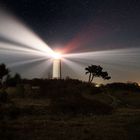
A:
{"type": "Polygon", "coordinates": [[[21,79],[19,74],[14,77],[7,78],[4,82],[7,87],[16,87],[22,85],[30,88],[39,88],[41,95],[55,96],[59,94],[74,94],[75,96],[82,91],[97,94],[105,92],[106,90],[126,90],[140,92],[140,86],[136,82],[127,83],[109,83],[96,87],[95,83],[84,82],[76,79],[21,79]]]}

